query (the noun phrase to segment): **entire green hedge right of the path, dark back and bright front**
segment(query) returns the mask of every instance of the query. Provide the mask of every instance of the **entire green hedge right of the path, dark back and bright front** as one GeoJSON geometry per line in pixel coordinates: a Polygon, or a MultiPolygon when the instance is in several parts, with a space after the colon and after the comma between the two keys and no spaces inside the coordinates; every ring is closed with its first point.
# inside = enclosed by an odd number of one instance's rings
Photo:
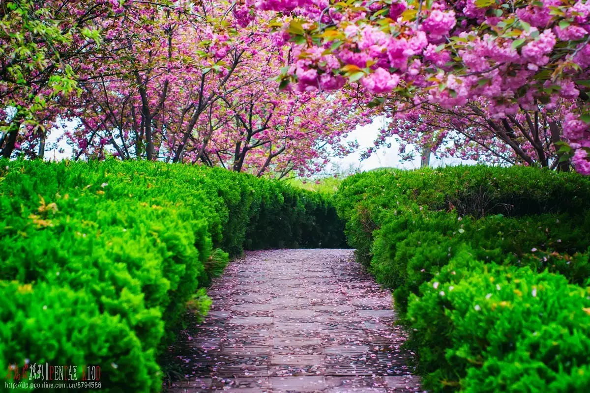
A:
{"type": "Polygon", "coordinates": [[[433,391],[590,389],[590,181],[526,167],[374,171],[336,194],[433,391]]]}

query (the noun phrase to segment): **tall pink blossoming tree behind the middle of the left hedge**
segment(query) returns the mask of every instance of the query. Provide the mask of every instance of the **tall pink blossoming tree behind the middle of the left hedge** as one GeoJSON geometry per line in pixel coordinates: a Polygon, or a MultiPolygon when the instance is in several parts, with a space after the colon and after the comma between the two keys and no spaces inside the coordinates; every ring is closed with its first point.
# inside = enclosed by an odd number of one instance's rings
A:
{"type": "MultiPolygon", "coordinates": [[[[68,134],[82,154],[105,146],[122,158],[181,161],[192,131],[244,55],[227,34],[222,2],[150,6],[124,19],[84,65],[84,93],[68,105],[80,126],[68,134]]],[[[114,21],[113,21],[114,23],[114,21]]],[[[248,38],[242,35],[240,38],[248,38]]]]}

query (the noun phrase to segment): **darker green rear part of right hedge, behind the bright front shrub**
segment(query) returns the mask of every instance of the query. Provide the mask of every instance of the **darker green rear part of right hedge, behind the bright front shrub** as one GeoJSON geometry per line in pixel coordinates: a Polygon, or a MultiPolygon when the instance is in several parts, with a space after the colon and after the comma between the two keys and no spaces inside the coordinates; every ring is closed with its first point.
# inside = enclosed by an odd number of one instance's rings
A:
{"type": "Polygon", "coordinates": [[[590,181],[577,174],[474,166],[358,174],[343,181],[335,201],[360,262],[398,289],[403,311],[407,287],[415,292],[463,243],[478,259],[548,267],[583,283],[590,273],[579,256],[590,247],[586,193],[590,181]]]}

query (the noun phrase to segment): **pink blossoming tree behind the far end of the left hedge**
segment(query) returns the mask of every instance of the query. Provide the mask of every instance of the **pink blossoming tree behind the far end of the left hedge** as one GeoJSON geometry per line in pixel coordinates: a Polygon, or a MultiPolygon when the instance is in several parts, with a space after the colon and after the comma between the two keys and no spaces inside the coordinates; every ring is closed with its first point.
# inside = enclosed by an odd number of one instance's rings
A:
{"type": "MultiPolygon", "coordinates": [[[[236,92],[238,93],[238,92],[236,92]]],[[[209,156],[234,171],[284,177],[317,173],[332,156],[348,154],[354,144],[342,138],[370,117],[360,115],[342,93],[292,93],[262,82],[241,91],[228,113],[231,121],[212,138],[209,156]]]]}

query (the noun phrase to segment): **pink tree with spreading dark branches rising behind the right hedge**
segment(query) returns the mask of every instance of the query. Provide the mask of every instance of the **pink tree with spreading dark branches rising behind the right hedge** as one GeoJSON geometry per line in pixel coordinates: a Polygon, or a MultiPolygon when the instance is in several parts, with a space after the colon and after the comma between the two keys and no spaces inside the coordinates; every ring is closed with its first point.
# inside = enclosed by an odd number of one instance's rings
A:
{"type": "Polygon", "coordinates": [[[561,158],[555,147],[561,141],[563,115],[571,102],[539,105],[531,111],[521,109],[502,118],[494,118],[485,104],[480,99],[447,109],[424,103],[393,113],[392,121],[381,130],[375,146],[366,150],[363,158],[389,145],[388,138],[395,137],[406,159],[413,158],[412,151],[406,151],[411,144],[437,157],[568,169],[568,161],[561,158]]]}

